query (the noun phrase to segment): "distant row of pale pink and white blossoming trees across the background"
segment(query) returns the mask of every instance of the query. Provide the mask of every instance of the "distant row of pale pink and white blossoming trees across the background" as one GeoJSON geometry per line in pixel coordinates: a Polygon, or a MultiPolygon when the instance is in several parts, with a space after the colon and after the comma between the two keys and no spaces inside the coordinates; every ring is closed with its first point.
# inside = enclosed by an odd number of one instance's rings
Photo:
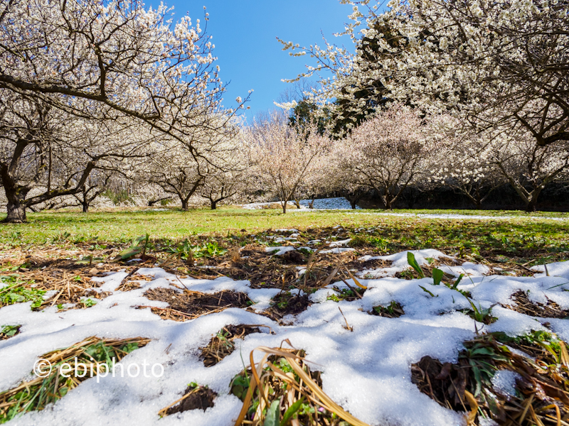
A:
{"type": "MultiPolygon", "coordinates": [[[[496,188],[511,185],[532,211],[546,185],[569,182],[569,144],[539,146],[525,131],[481,136],[448,114],[425,116],[392,104],[334,138],[319,130],[317,119],[290,114],[273,111],[250,125],[225,124],[223,138],[201,140],[214,148],[203,160],[167,138],[144,138],[136,155],[105,159],[83,183],[74,180],[80,187],[73,195],[62,197],[60,191],[51,202],[36,202],[50,180],[53,187],[64,187],[73,173],[87,173],[73,156],[58,165],[52,160],[52,171],[34,183],[26,201],[33,200],[31,209],[80,205],[87,212],[97,196],[127,192],[123,200],[137,197],[147,205],[176,200],[183,209],[196,199],[207,200],[212,209],[220,202],[279,201],[286,213],[288,202],[331,194],[346,197],[353,208],[373,194],[391,209],[408,187],[450,187],[481,208],[496,188]]],[[[128,135],[117,134],[116,145],[127,143],[128,135]]],[[[40,165],[33,158],[28,163],[37,175],[40,165]]],[[[18,173],[31,182],[26,169],[18,173]]]]}

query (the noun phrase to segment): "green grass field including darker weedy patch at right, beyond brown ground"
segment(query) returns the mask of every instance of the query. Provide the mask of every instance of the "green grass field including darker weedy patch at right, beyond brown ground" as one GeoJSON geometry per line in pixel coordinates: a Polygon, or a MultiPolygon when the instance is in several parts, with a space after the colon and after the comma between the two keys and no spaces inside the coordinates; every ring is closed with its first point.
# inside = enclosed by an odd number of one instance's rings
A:
{"type": "MultiPolygon", "coordinates": [[[[268,229],[297,228],[308,232],[341,225],[363,245],[376,246],[382,252],[405,249],[439,249],[460,256],[507,256],[535,262],[569,258],[569,220],[563,213],[527,214],[525,212],[395,210],[393,213],[482,214],[496,219],[424,219],[386,216],[377,210],[294,212],[283,215],[278,210],[222,208],[215,211],[194,209],[117,209],[92,212],[41,212],[28,214],[27,224],[0,226],[0,244],[14,246],[69,246],[73,244],[128,244],[134,237],[149,234],[151,241],[165,246],[184,239],[215,238],[223,241],[268,229]],[[499,219],[499,213],[514,216],[499,219]],[[373,231],[362,231],[360,228],[373,231]],[[359,230],[358,230],[359,229],[359,230]],[[245,230],[245,231],[243,231],[245,230]]],[[[227,241],[226,241],[227,242],[227,241]]]]}

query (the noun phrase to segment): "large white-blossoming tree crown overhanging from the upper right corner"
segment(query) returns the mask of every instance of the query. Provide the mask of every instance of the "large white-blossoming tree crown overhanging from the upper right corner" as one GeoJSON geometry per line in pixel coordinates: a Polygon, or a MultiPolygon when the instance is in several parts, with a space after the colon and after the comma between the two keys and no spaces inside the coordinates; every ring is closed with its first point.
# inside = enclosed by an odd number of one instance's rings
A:
{"type": "Polygon", "coordinates": [[[353,4],[354,55],[329,44],[285,49],[316,58],[304,75],[335,73],[320,98],[341,99],[348,126],[388,98],[451,111],[478,130],[524,129],[539,146],[569,140],[566,1],[392,0],[387,11],[342,1],[353,4]]]}

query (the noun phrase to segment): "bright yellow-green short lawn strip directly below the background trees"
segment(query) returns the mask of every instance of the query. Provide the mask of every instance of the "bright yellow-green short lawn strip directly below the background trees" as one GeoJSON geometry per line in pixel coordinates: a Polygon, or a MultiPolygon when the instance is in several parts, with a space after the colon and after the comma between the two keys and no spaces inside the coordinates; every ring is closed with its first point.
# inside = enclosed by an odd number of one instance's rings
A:
{"type": "MultiPolygon", "coordinates": [[[[374,226],[378,224],[440,223],[441,219],[415,219],[407,217],[390,217],[376,214],[377,210],[360,210],[354,214],[350,210],[336,210],[332,212],[294,212],[282,214],[278,210],[245,210],[237,208],[223,208],[218,210],[194,209],[182,212],[169,209],[164,212],[147,210],[116,210],[112,212],[92,212],[83,214],[79,212],[40,212],[29,213],[27,224],[3,224],[0,226],[0,243],[43,244],[58,240],[80,241],[109,241],[125,242],[134,236],[150,234],[152,238],[180,239],[196,234],[227,234],[240,229],[256,232],[265,229],[278,229],[297,227],[306,229],[309,226],[374,226]]],[[[381,211],[380,211],[381,212],[381,211]]],[[[394,213],[432,213],[451,212],[453,214],[489,214],[499,216],[495,211],[472,210],[394,210],[394,213]]],[[[516,224],[516,227],[549,228],[551,222],[544,219],[533,222],[538,216],[524,212],[505,212],[508,215],[519,216],[519,219],[495,222],[491,221],[491,228],[504,228],[504,223],[516,224]]],[[[560,217],[567,214],[541,213],[560,217]]],[[[0,217],[1,219],[1,217],[0,217]]],[[[446,226],[454,228],[464,220],[443,220],[446,226]]],[[[559,222],[559,221],[555,221],[559,222]]],[[[569,222],[569,221],[568,221],[569,222]]],[[[484,224],[477,220],[475,224],[484,224]]],[[[565,222],[556,224],[559,228],[567,229],[565,222]]],[[[555,227],[557,227],[555,226],[555,227]]],[[[506,226],[507,227],[507,226],[506,226]]],[[[487,226],[484,226],[487,228],[487,226]]]]}

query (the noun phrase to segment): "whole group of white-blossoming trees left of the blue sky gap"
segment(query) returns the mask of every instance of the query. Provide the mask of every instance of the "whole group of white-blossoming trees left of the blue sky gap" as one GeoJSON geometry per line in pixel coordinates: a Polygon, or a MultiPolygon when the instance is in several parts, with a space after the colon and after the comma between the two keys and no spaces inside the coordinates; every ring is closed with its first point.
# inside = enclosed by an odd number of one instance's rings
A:
{"type": "Polygon", "coordinates": [[[117,174],[175,188],[184,205],[206,177],[233,170],[228,141],[247,99],[221,104],[208,13],[170,14],[138,0],[1,3],[6,222],[68,195],[86,209],[117,174]]]}

